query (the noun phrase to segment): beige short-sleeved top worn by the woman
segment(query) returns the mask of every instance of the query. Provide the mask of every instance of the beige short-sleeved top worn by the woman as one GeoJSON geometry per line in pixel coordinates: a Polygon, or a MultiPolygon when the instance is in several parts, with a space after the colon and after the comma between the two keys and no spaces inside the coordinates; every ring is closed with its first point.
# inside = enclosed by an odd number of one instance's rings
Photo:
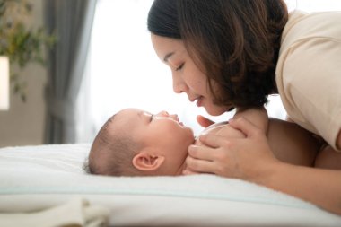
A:
{"type": "Polygon", "coordinates": [[[290,14],[276,83],[288,116],[336,149],[341,129],[341,12],[290,14]]]}

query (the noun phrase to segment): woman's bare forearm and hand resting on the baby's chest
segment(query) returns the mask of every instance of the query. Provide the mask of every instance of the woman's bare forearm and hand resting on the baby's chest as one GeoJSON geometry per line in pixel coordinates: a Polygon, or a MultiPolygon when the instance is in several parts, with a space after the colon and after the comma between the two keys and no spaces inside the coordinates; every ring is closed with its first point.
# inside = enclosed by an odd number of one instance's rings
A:
{"type": "Polygon", "coordinates": [[[249,180],[341,214],[341,170],[321,170],[279,162],[262,130],[245,118],[232,120],[230,125],[241,130],[246,138],[202,136],[201,141],[214,151],[190,146],[188,152],[193,157],[187,160],[190,169],[249,180]],[[196,162],[197,159],[200,163],[196,162]]]}

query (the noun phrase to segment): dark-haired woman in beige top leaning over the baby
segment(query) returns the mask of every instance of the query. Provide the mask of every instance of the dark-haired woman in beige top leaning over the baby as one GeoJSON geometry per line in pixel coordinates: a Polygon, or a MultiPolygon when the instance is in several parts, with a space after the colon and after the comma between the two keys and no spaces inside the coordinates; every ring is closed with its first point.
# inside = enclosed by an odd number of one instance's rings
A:
{"type": "MultiPolygon", "coordinates": [[[[340,22],[341,13],[289,16],[281,0],[155,0],[148,15],[153,48],[170,66],[174,92],[186,92],[215,116],[261,107],[269,94],[279,93],[289,118],[321,136],[336,162],[341,162],[340,22]]],[[[246,138],[202,136],[206,146],[188,148],[191,171],[253,181],[341,214],[340,170],[279,162],[258,127],[245,118],[231,125],[246,138]]]]}

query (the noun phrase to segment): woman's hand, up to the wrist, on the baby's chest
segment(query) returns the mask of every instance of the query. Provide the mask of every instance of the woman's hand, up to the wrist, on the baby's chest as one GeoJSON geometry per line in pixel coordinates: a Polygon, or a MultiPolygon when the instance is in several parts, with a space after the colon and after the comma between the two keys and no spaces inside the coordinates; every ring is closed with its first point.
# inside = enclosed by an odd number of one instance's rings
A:
{"type": "Polygon", "coordinates": [[[205,145],[188,147],[188,170],[255,181],[262,170],[267,170],[271,163],[278,162],[267,143],[264,131],[246,118],[232,119],[230,125],[246,137],[200,136],[200,141],[205,145]]]}

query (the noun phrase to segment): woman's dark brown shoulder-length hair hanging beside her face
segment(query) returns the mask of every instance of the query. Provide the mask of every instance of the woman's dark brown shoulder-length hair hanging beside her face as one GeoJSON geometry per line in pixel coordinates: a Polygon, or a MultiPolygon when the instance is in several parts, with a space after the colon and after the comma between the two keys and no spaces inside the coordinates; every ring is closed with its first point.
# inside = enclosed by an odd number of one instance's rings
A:
{"type": "Polygon", "coordinates": [[[183,40],[216,104],[259,107],[277,92],[275,65],[287,20],[283,0],[154,0],[148,30],[183,40]]]}

